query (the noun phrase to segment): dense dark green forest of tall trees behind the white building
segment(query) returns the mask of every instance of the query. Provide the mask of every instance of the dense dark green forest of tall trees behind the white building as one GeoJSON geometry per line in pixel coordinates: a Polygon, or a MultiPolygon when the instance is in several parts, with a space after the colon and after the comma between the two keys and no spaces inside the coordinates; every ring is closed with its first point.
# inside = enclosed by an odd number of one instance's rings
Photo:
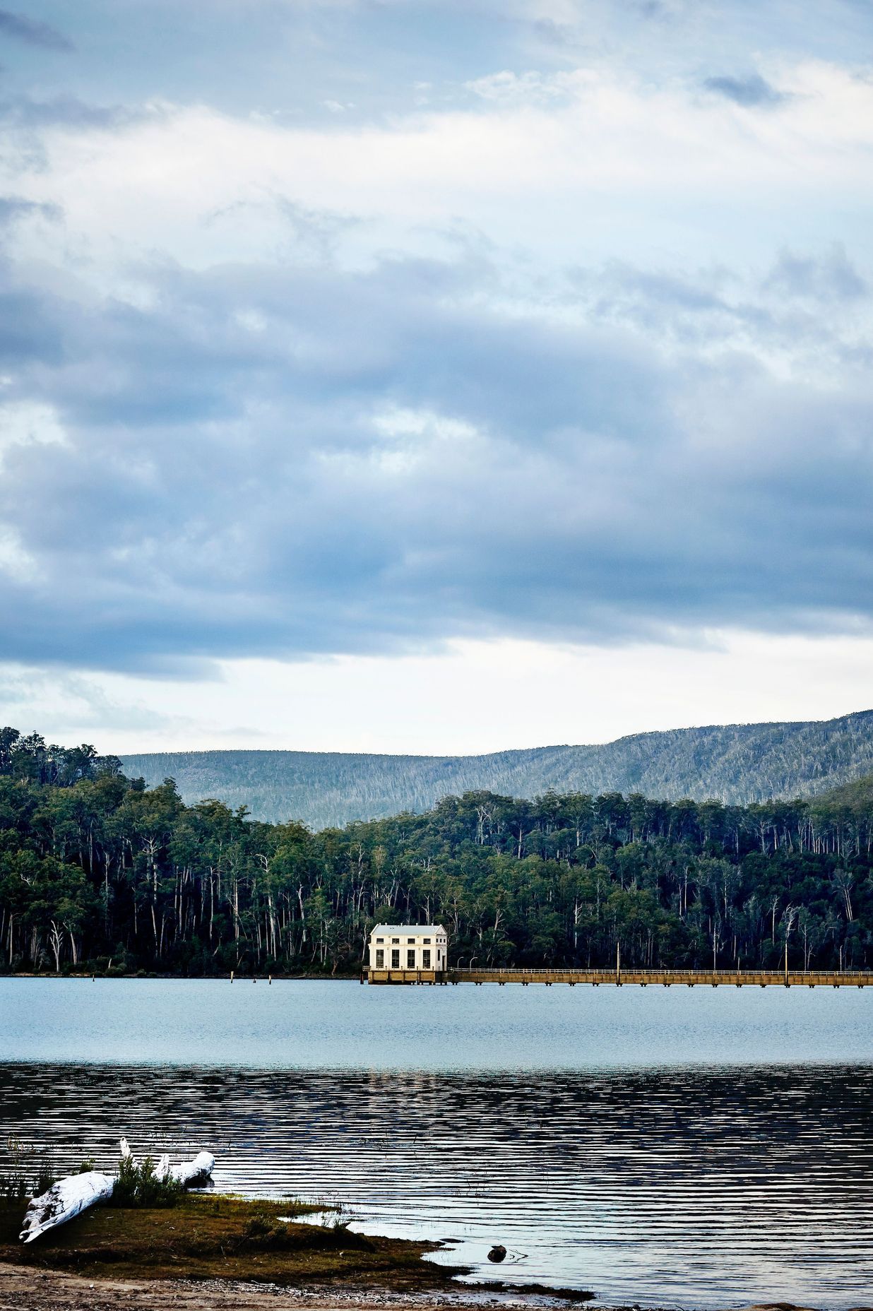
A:
{"type": "Polygon", "coordinates": [[[312,832],[185,805],[115,756],[0,730],[7,971],[346,973],[378,920],[455,964],[873,965],[873,785],[728,806],[492,792],[312,832]]]}

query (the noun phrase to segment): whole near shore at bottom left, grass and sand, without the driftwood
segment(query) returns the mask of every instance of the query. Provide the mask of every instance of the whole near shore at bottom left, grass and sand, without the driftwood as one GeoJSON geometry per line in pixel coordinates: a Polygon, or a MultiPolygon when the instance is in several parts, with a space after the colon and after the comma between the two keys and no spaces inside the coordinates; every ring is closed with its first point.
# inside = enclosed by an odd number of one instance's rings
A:
{"type": "MultiPolygon", "coordinates": [[[[315,1207],[190,1193],[166,1207],[97,1206],[24,1245],[20,1201],[0,1202],[0,1311],[641,1311],[596,1293],[490,1280],[426,1260],[439,1243],[362,1235],[315,1207]]],[[[498,1269],[494,1270],[497,1276],[498,1269]]],[[[665,1302],[646,1311],[678,1311],[665,1302]]],[[[693,1311],[684,1304],[682,1311],[693,1311]]],[[[712,1311],[712,1308],[709,1308],[712,1311]]],[[[728,1304],[722,1311],[729,1311],[728,1304]]],[[[735,1311],[730,1308],[730,1311],[735,1311]]],[[[746,1311],[823,1311],[785,1301],[746,1311]]],[[[857,1306],[847,1311],[873,1311],[857,1306]]]]}

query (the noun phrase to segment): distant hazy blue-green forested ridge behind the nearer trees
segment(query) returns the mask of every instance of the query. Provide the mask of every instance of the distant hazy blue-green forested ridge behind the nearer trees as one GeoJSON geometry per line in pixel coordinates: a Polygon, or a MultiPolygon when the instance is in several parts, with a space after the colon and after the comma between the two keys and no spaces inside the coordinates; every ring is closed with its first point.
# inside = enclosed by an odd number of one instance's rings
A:
{"type": "Polygon", "coordinates": [[[873,711],[836,720],[726,724],[637,733],[598,746],[543,746],[488,755],[345,751],[168,751],[122,756],[152,785],[176,779],[186,802],[218,797],[258,819],[315,829],[429,810],[450,793],[514,797],[641,792],[733,805],[815,796],[873,773],[873,711]]]}

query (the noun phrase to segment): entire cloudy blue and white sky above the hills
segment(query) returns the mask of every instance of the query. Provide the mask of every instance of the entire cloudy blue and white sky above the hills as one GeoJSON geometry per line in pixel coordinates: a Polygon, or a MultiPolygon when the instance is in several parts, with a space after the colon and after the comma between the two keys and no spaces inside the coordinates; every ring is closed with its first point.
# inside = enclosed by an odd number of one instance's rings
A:
{"type": "Polygon", "coordinates": [[[0,720],[873,705],[868,0],[0,8],[0,720]]]}

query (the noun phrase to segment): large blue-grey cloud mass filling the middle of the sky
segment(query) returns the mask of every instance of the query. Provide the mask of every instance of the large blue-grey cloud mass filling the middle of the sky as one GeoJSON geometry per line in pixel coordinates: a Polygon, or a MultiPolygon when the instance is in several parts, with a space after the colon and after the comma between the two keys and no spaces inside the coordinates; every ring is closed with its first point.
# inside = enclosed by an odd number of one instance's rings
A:
{"type": "Polygon", "coordinates": [[[728,317],[691,279],[607,270],[549,321],[489,308],[494,277],[467,253],[157,270],[148,309],[20,300],[9,399],[68,442],[4,454],[31,566],[0,573],[0,658],[160,674],[873,620],[866,374],[819,393],[621,324],[623,279],[650,315],[728,317]]]}

